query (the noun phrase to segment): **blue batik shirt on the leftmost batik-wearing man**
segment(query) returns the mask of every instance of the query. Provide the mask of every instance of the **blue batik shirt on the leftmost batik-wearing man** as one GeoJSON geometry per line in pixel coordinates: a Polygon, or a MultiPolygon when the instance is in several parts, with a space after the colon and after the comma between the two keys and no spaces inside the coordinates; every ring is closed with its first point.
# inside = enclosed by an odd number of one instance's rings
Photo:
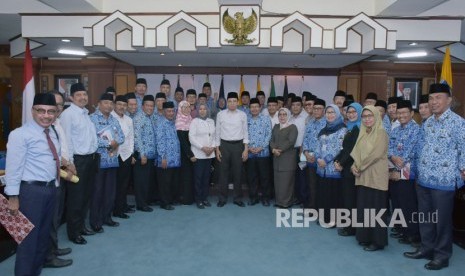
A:
{"type": "Polygon", "coordinates": [[[116,141],[118,145],[124,143],[124,134],[118,120],[109,115],[107,118],[103,116],[100,110],[96,110],[90,115],[90,120],[95,125],[97,130],[97,153],[100,154],[100,168],[117,168],[118,150],[110,148],[111,141],[116,141]]]}

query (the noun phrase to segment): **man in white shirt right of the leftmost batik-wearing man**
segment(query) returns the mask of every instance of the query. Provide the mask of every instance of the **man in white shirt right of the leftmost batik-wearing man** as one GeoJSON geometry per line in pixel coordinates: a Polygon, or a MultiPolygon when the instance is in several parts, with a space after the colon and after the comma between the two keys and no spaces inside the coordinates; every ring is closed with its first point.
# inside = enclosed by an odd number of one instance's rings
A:
{"type": "Polygon", "coordinates": [[[116,172],[116,196],[113,216],[124,219],[129,218],[125,214],[128,208],[126,192],[131,180],[131,168],[136,161],[132,157],[134,152],[134,126],[132,119],[125,115],[127,108],[127,98],[122,95],[116,96],[115,109],[111,112],[111,115],[118,120],[123,130],[124,143],[118,147],[119,167],[116,172]]]}

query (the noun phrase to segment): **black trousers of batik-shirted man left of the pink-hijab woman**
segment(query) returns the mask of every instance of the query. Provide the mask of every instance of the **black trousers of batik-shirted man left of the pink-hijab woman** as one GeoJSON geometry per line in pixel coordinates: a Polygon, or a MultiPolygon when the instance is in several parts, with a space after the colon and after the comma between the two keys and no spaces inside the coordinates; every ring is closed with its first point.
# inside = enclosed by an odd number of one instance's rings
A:
{"type": "Polygon", "coordinates": [[[174,196],[179,187],[179,168],[162,169],[157,167],[158,193],[160,195],[160,206],[173,203],[174,196]]]}

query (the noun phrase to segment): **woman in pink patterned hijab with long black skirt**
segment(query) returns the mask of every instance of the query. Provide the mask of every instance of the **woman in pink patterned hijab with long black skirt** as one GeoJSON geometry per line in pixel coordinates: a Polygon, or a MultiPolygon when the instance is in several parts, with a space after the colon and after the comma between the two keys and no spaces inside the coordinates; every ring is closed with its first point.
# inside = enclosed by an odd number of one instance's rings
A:
{"type": "Polygon", "coordinates": [[[187,101],[181,101],[178,106],[175,122],[176,132],[181,145],[181,169],[179,171],[181,180],[179,181],[179,188],[175,189],[177,191],[175,200],[185,205],[190,205],[194,202],[192,163],[197,160],[189,142],[189,127],[192,122],[190,112],[190,104],[187,101]]]}

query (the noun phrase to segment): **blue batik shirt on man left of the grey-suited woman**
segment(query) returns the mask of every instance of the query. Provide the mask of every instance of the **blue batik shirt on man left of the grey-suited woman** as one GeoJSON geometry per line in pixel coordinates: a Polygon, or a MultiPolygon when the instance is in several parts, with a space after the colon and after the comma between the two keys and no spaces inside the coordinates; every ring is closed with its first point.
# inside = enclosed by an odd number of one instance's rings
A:
{"type": "Polygon", "coordinates": [[[270,117],[259,114],[247,119],[249,128],[249,148],[262,148],[258,154],[249,152],[249,158],[269,157],[271,140],[270,117]]]}

